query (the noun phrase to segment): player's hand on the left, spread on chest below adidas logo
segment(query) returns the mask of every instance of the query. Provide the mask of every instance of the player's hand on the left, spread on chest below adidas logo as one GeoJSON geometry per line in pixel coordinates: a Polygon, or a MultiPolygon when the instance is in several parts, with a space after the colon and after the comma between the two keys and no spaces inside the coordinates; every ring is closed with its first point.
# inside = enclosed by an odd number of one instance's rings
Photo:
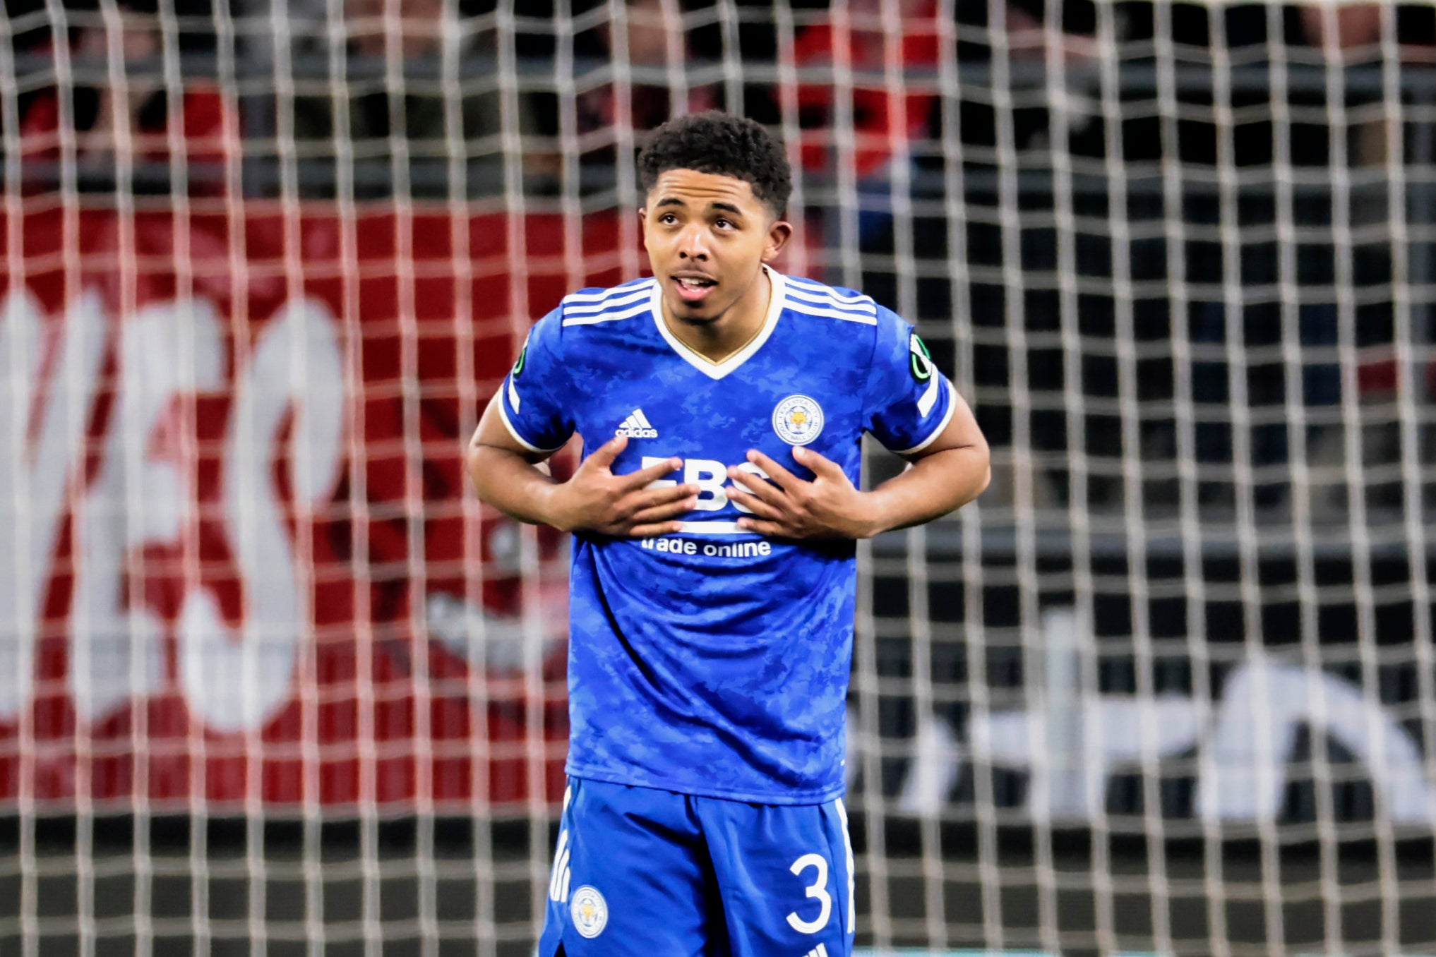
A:
{"type": "Polygon", "coordinates": [[[682,459],[663,459],[628,475],[613,473],[613,461],[628,445],[615,436],[595,449],[567,482],[550,492],[549,524],[566,532],[589,531],[620,538],[649,538],[682,529],[673,521],[698,502],[696,485],[645,488],[684,466],[682,459]]]}

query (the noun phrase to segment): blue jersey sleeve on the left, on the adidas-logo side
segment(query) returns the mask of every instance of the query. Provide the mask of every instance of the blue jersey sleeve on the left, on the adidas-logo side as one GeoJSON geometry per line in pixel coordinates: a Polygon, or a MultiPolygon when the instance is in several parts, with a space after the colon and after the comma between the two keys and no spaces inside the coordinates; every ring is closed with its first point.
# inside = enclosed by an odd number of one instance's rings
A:
{"type": "Polygon", "coordinates": [[[498,410],[520,445],[554,452],[573,435],[573,390],[563,364],[563,323],[559,310],[528,331],[518,360],[504,377],[498,410]]]}

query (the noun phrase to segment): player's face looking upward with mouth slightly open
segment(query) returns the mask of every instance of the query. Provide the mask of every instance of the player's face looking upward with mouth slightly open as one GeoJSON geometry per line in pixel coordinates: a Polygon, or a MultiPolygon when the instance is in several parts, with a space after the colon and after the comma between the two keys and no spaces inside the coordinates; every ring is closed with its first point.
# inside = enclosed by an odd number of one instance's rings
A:
{"type": "Polygon", "coordinates": [[[752,187],[735,176],[694,169],[659,174],[639,211],[653,277],[668,314],[707,326],[734,311],[767,307],[763,264],[783,250],[793,228],[778,221],[752,187]]]}

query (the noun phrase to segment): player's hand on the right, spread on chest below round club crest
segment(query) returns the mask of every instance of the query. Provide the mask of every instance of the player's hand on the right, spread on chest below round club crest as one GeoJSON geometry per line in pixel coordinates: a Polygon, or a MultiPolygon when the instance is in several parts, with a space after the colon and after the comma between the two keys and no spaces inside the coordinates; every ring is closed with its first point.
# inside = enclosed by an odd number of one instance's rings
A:
{"type": "Polygon", "coordinates": [[[793,458],[813,472],[811,482],[755,449],[748,452],[748,461],[777,485],[737,466],[728,469],[734,482],[729,501],[752,511],[738,519],[738,528],[771,538],[867,538],[876,532],[867,515],[867,496],[837,462],[801,445],[794,446],[793,458]]]}

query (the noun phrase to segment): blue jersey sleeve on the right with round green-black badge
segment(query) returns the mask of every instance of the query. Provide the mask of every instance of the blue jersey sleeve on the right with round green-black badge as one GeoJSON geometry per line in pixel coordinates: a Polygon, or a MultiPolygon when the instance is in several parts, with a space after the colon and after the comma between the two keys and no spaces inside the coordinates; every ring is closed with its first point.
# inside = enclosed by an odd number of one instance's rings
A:
{"type": "Polygon", "coordinates": [[[920,452],[952,418],[952,383],[938,372],[912,326],[879,307],[863,428],[898,453],[920,452]]]}

